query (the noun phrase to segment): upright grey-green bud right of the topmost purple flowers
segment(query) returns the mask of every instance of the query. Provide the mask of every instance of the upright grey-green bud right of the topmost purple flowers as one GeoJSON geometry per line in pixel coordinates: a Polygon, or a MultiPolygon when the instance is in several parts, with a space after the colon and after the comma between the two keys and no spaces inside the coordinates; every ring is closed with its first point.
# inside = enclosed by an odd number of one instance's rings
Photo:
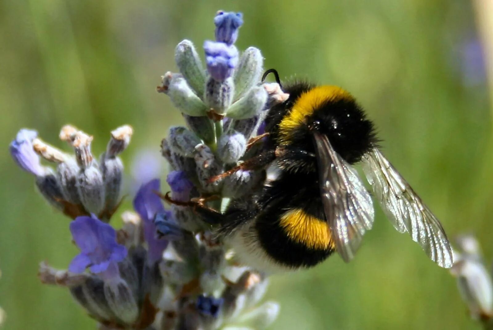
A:
{"type": "Polygon", "coordinates": [[[264,58],[258,48],[246,48],[235,71],[235,100],[260,82],[263,63],[264,58]]]}

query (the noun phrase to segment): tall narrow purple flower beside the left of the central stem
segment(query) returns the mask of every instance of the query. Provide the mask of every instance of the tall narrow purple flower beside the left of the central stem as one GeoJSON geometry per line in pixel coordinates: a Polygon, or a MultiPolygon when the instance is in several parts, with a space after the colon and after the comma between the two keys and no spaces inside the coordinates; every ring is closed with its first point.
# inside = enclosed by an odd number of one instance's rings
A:
{"type": "Polygon", "coordinates": [[[134,198],[134,209],[143,222],[144,239],[149,247],[148,260],[150,263],[160,260],[168,246],[167,240],[156,238],[156,225],[153,222],[156,214],[169,213],[165,211],[161,198],[156,194],[160,191],[160,185],[159,179],[142,184],[134,198]]]}

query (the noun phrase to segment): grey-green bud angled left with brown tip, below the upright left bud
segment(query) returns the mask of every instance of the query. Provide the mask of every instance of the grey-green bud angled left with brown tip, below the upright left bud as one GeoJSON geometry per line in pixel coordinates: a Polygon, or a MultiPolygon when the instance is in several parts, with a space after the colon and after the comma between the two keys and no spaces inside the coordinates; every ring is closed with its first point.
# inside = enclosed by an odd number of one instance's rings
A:
{"type": "Polygon", "coordinates": [[[207,107],[195,95],[181,74],[167,72],[162,76],[162,84],[158,92],[167,94],[176,108],[190,116],[207,115],[207,107]]]}

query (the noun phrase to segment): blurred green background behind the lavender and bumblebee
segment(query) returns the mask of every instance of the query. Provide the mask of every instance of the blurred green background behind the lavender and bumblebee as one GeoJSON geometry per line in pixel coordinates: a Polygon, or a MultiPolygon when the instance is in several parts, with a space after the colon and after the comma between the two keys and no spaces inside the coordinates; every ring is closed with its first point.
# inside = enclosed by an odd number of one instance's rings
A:
{"type": "MultiPolygon", "coordinates": [[[[493,256],[492,107],[468,1],[0,1],[0,306],[4,329],[94,329],[63,288],[43,286],[37,265],[75,255],[69,221],[14,166],[8,143],[21,127],[57,141],[66,123],[106,146],[129,123],[123,158],[159,152],[182,122],[155,92],[176,71],[183,38],[201,48],[218,9],[243,11],[237,46],[259,47],[267,68],[340,85],[378,127],[387,157],[442,220],[449,236],[473,232],[493,256]]],[[[66,147],[66,146],[64,146],[66,147]]],[[[165,173],[162,173],[162,177],[165,173]]],[[[126,207],[130,207],[131,198],[126,207]]],[[[273,329],[479,329],[455,279],[377,211],[353,262],[274,276],[282,303],[273,329]]]]}

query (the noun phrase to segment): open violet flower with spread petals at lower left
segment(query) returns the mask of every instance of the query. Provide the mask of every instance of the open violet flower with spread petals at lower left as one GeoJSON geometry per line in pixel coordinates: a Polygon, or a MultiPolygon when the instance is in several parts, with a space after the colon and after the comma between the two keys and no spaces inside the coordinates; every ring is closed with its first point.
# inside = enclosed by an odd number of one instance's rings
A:
{"type": "Polygon", "coordinates": [[[83,216],[70,222],[70,232],[80,249],[80,254],[70,262],[72,273],[82,273],[89,268],[104,279],[119,277],[117,263],[127,257],[127,249],[116,243],[113,227],[96,218],[83,216]]]}

